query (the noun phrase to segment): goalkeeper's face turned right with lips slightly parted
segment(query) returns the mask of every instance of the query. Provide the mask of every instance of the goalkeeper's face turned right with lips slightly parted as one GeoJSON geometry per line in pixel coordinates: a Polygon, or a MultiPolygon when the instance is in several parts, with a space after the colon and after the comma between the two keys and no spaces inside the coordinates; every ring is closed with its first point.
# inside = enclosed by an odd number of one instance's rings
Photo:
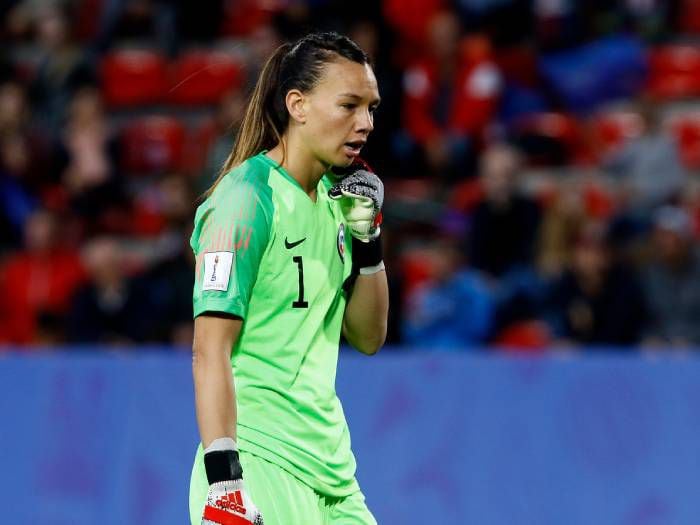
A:
{"type": "Polygon", "coordinates": [[[379,105],[377,79],[368,64],[338,58],[305,94],[301,139],[319,161],[349,166],[360,154],[379,105]]]}

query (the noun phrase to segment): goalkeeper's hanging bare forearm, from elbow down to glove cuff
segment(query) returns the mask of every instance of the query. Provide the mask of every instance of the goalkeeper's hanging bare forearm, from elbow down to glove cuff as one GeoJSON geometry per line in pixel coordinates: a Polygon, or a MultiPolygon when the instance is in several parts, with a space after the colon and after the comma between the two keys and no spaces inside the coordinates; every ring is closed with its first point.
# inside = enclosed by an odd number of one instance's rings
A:
{"type": "Polygon", "coordinates": [[[194,353],[195,410],[202,445],[220,437],[236,439],[236,396],[231,363],[222,353],[194,353]]]}

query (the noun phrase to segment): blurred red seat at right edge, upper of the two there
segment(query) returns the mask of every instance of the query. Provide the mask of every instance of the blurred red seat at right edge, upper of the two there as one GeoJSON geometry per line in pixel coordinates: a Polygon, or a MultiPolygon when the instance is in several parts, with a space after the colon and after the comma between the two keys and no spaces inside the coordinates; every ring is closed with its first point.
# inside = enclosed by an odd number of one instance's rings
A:
{"type": "Polygon", "coordinates": [[[700,49],[669,45],[650,51],[647,90],[659,99],[700,95],[700,49]]]}

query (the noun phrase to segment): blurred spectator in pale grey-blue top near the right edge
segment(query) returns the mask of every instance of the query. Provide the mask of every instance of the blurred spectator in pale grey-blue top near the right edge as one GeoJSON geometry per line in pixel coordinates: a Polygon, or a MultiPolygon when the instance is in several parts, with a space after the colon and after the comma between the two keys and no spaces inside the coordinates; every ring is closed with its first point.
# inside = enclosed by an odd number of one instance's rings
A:
{"type": "Polygon", "coordinates": [[[620,178],[631,212],[646,214],[677,197],[687,174],[673,137],[661,126],[656,105],[641,100],[638,107],[644,122],[642,135],[608,159],[606,167],[620,178]]]}

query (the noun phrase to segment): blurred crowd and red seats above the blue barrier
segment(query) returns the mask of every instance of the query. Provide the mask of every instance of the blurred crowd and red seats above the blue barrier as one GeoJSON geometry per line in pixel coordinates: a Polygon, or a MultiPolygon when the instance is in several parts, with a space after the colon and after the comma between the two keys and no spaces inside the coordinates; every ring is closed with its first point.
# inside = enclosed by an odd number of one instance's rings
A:
{"type": "Polygon", "coordinates": [[[372,57],[389,341],[700,345],[697,0],[10,0],[0,344],[189,346],[198,198],[272,50],[372,57]]]}

